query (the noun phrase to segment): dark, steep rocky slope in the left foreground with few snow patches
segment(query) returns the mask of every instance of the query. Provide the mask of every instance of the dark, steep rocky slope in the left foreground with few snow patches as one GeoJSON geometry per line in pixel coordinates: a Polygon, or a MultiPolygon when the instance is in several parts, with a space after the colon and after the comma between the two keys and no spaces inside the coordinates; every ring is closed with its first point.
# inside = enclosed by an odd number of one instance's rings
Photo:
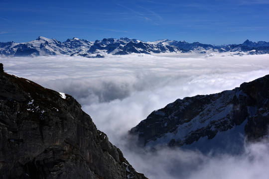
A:
{"type": "Polygon", "coordinates": [[[146,179],[70,95],[0,73],[0,179],[146,179]]]}

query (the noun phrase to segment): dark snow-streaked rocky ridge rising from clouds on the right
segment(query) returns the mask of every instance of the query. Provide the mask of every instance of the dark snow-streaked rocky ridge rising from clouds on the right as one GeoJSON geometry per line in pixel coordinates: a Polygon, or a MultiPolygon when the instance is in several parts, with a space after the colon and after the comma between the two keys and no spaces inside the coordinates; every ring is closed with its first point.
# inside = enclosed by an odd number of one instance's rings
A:
{"type": "Polygon", "coordinates": [[[130,134],[138,135],[142,146],[183,146],[240,125],[248,140],[267,136],[269,75],[233,90],[177,99],[153,111],[130,134]]]}

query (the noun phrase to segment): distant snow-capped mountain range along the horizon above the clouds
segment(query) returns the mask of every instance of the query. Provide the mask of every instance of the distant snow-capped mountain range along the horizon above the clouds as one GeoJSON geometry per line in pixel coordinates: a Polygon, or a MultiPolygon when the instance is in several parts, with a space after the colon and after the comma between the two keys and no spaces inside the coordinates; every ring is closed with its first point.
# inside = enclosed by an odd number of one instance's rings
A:
{"type": "Polygon", "coordinates": [[[199,42],[188,43],[166,39],[154,42],[143,42],[129,38],[105,38],[101,41],[88,41],[75,37],[64,42],[45,37],[38,37],[36,40],[26,43],[0,42],[0,55],[3,56],[70,55],[102,58],[105,54],[126,55],[131,53],[152,54],[167,52],[205,54],[230,52],[233,55],[267,54],[269,53],[269,42],[246,40],[243,44],[215,46],[199,42]]]}

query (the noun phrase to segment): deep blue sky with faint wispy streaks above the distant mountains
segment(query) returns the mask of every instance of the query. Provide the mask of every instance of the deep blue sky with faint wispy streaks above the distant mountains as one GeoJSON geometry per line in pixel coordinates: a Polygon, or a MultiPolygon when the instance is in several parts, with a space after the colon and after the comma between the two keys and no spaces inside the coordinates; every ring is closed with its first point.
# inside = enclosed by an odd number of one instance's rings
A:
{"type": "Polygon", "coordinates": [[[0,42],[38,36],[269,41],[269,0],[0,0],[0,42]]]}

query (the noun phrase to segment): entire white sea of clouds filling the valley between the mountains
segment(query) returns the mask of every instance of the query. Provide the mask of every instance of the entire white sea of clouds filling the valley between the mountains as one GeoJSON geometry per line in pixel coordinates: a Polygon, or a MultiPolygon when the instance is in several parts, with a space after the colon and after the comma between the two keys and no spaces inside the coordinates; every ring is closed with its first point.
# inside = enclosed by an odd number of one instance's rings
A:
{"type": "Polygon", "coordinates": [[[102,59],[48,56],[0,58],[5,72],[74,96],[82,109],[149,179],[264,179],[268,142],[246,144],[240,155],[130,148],[127,132],[177,98],[239,87],[269,74],[269,54],[106,55],[102,59]]]}

